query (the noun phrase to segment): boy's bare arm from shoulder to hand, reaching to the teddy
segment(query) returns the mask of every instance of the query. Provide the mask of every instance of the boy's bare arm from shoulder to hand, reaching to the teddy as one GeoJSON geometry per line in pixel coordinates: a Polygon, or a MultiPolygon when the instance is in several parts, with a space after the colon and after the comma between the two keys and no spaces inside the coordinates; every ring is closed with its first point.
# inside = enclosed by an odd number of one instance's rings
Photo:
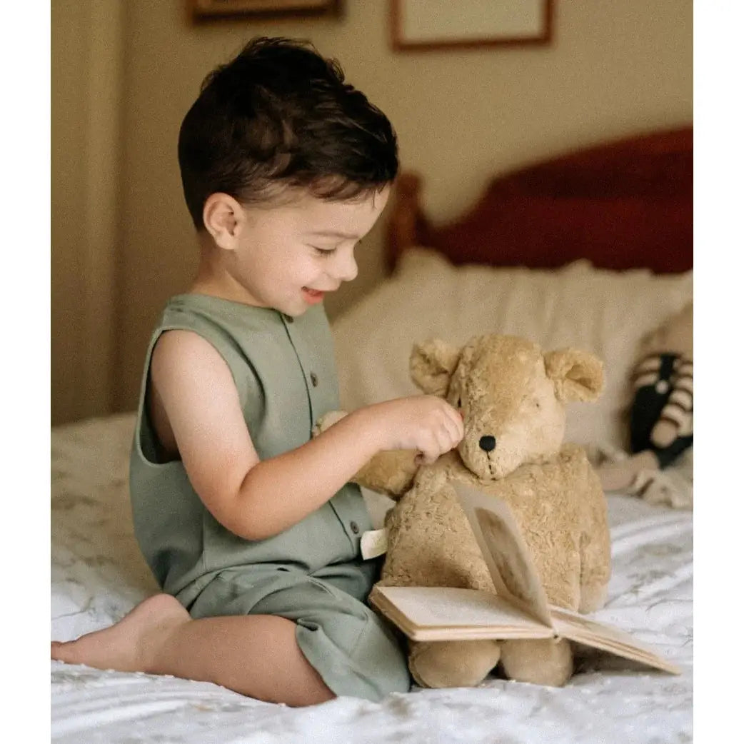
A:
{"type": "Polygon", "coordinates": [[[421,395],[360,408],[307,444],[260,461],[229,368],[208,341],[164,333],[151,370],[153,398],[194,490],[218,522],[246,539],[295,525],[382,449],[417,449],[433,462],[463,436],[452,406],[421,395]]]}

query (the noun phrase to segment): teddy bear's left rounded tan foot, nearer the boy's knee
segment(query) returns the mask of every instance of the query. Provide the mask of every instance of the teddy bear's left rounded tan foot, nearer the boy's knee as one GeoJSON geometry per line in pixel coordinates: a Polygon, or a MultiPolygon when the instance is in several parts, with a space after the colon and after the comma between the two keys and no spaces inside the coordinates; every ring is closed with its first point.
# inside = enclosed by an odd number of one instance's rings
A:
{"type": "Polygon", "coordinates": [[[497,641],[437,641],[411,644],[408,667],[421,687],[475,687],[496,667],[497,641]]]}

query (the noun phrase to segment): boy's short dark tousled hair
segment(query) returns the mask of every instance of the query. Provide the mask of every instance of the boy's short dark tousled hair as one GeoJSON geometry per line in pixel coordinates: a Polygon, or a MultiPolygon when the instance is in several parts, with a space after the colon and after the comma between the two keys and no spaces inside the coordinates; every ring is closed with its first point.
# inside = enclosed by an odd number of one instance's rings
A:
{"type": "Polygon", "coordinates": [[[212,193],[260,204],[286,187],[321,199],[382,190],[398,170],[388,118],[310,42],[251,39],[205,78],[179,132],[186,205],[197,230],[212,193]]]}

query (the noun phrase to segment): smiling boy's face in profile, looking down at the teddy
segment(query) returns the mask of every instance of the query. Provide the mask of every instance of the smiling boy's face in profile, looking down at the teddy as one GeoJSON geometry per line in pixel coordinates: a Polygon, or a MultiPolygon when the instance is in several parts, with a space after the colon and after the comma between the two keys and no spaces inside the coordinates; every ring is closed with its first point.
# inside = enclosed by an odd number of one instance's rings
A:
{"type": "Polygon", "coordinates": [[[306,194],[286,205],[243,207],[243,230],[227,269],[246,291],[246,302],[301,315],[355,278],[354,248],[389,193],[385,187],[345,202],[306,194]]]}

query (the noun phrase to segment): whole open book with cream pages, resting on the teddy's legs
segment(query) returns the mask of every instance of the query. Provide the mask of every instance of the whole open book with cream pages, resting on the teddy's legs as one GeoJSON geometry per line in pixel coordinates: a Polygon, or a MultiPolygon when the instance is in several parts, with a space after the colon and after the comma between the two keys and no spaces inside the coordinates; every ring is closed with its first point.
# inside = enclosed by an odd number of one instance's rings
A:
{"type": "Polygon", "coordinates": [[[414,641],[568,638],[679,674],[679,667],[617,628],[548,604],[510,509],[496,496],[455,484],[496,587],[375,586],[371,603],[414,641]]]}

